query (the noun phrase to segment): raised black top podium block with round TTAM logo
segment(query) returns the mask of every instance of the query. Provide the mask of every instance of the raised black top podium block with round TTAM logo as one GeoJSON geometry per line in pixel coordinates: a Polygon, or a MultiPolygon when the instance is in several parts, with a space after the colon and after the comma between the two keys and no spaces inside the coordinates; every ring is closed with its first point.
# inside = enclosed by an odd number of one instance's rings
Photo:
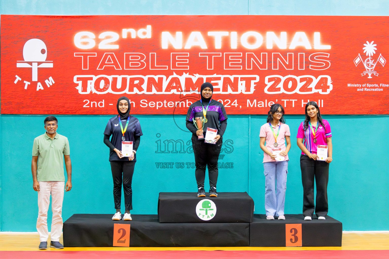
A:
{"type": "MultiPolygon", "coordinates": [[[[197,197],[197,193],[159,193],[159,222],[252,222],[254,201],[246,193],[218,193],[218,197],[197,197]],[[196,214],[196,206],[204,199],[214,202],[217,212],[208,221],[196,214]]],[[[212,213],[212,211],[210,212],[212,213]]]]}

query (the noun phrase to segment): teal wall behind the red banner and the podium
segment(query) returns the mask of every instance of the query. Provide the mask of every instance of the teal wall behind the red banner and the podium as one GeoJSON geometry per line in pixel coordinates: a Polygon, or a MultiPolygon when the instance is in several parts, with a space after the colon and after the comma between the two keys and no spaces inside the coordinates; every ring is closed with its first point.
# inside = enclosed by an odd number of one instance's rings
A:
{"type": "MultiPolygon", "coordinates": [[[[2,0],[1,14],[280,14],[280,15],[386,15],[385,0],[359,1],[123,1],[123,0],[2,0]]],[[[347,107],[345,107],[347,112],[347,107]]],[[[227,111],[228,112],[228,111],[227,111]]],[[[302,111],[303,112],[303,111],[302,111]]],[[[114,110],[112,111],[114,113],[114,110]]],[[[323,110],[325,114],[325,110],[323,110]]],[[[0,230],[36,231],[37,193],[32,189],[31,150],[33,139],[44,133],[46,115],[0,115],[0,230]],[[20,215],[24,215],[21,217],[20,215]]],[[[74,213],[113,213],[109,149],[103,130],[111,116],[57,116],[58,133],[68,137],[73,166],[72,191],[65,193],[63,218],[74,213]]],[[[156,214],[160,191],[196,191],[191,134],[184,116],[140,115],[144,136],[137,153],[133,178],[133,214],[156,214]],[[177,125],[176,125],[177,123],[177,125]],[[178,126],[178,127],[177,127],[178,126]],[[183,143],[172,153],[172,142],[183,143]],[[164,143],[165,141],[165,143],[164,143]],[[181,142],[182,141],[182,142],[181,142]],[[160,145],[159,145],[160,143],[160,145]],[[158,163],[173,163],[173,169],[157,169],[158,163]],[[177,169],[176,163],[184,163],[177,169]],[[186,164],[188,163],[188,164],[186,164]]],[[[330,165],[329,216],[343,222],[344,230],[389,230],[389,177],[384,162],[389,141],[382,136],[389,116],[324,115],[333,132],[333,162],[330,165]],[[370,219],[374,217],[374,219],[370,219]]],[[[291,128],[289,174],[285,212],[301,213],[302,186],[297,128],[303,116],[286,115],[291,128]]],[[[263,115],[229,116],[219,162],[233,168],[219,169],[218,191],[247,191],[255,213],[265,213],[263,152],[259,128],[263,115]]],[[[123,209],[123,208],[122,208],[123,209]]],[[[49,209],[51,210],[51,209],[49,209]]],[[[49,226],[51,214],[49,214],[49,226]]]]}

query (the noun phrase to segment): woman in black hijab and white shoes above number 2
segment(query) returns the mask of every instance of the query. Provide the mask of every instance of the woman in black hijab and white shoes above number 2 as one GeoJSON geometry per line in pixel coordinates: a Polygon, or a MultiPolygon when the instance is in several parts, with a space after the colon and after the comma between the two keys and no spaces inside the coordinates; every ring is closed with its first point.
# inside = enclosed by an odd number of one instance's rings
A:
{"type": "Polygon", "coordinates": [[[124,189],[125,213],[124,221],[130,221],[132,210],[132,176],[134,174],[137,149],[142,136],[139,120],[130,115],[130,100],[120,97],[117,100],[117,115],[110,118],[104,130],[104,144],[109,149],[112,178],[114,180],[114,203],[116,213],[112,220],[121,220],[121,186],[124,189]],[[112,135],[111,140],[109,137],[112,135]]]}

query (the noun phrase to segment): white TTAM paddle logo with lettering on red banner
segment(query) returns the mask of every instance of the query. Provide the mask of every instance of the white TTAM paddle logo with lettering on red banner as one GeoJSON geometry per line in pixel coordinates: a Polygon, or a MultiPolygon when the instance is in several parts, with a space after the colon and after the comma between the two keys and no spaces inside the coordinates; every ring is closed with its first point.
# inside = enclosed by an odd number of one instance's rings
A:
{"type": "MultiPolygon", "coordinates": [[[[28,78],[24,81],[25,83],[25,89],[27,89],[28,85],[31,84],[31,82],[37,82],[37,91],[38,90],[44,90],[42,83],[38,82],[38,70],[41,68],[53,68],[53,61],[47,61],[47,47],[46,44],[40,40],[40,39],[30,39],[27,40],[24,47],[23,47],[23,61],[18,60],[16,61],[16,67],[17,68],[28,68],[31,69],[31,78],[28,78]]],[[[15,84],[18,83],[18,81],[22,80],[18,75],[15,76],[15,84]]],[[[53,85],[54,80],[50,76],[47,80],[44,81],[47,85],[47,87],[50,87],[53,85]]]]}

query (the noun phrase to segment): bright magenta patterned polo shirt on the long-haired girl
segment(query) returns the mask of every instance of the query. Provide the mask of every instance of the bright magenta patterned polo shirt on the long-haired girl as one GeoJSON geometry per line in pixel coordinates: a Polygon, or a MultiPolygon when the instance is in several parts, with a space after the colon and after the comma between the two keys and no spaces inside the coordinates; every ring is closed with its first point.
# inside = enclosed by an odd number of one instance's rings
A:
{"type": "MultiPolygon", "coordinates": [[[[317,153],[317,145],[327,145],[327,137],[332,137],[332,132],[331,132],[331,127],[329,126],[328,121],[323,120],[323,124],[325,129],[323,128],[322,125],[317,122],[317,126],[319,126],[319,129],[317,129],[316,132],[316,139],[317,142],[314,143],[314,135],[312,134],[311,127],[309,127],[308,124],[308,129],[304,130],[304,122],[300,123],[300,126],[298,127],[297,131],[297,138],[298,139],[304,139],[304,145],[308,149],[308,151],[312,154],[317,153]]],[[[312,128],[316,130],[316,127],[312,128]]],[[[304,152],[301,152],[301,154],[305,155],[304,152]]]]}

